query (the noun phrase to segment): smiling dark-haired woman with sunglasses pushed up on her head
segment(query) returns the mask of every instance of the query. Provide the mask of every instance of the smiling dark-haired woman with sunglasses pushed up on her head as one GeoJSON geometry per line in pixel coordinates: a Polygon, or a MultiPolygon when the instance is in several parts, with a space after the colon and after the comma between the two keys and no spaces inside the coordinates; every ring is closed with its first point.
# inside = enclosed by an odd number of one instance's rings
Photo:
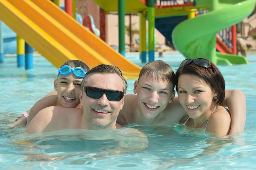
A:
{"type": "Polygon", "coordinates": [[[212,62],[186,59],[176,72],[176,90],[179,102],[188,116],[181,123],[193,134],[225,136],[231,128],[229,110],[221,106],[225,99],[225,80],[212,62]]]}

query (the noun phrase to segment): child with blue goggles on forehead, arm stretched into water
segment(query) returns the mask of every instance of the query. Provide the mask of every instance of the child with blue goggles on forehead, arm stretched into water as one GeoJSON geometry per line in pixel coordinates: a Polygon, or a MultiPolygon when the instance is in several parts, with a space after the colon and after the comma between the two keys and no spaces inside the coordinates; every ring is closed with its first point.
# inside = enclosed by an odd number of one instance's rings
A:
{"type": "Polygon", "coordinates": [[[11,126],[28,125],[33,117],[43,108],[49,106],[82,107],[79,99],[81,82],[90,68],[79,60],[69,60],[58,69],[54,80],[55,91],[40,99],[34,106],[24,112],[11,126]]]}

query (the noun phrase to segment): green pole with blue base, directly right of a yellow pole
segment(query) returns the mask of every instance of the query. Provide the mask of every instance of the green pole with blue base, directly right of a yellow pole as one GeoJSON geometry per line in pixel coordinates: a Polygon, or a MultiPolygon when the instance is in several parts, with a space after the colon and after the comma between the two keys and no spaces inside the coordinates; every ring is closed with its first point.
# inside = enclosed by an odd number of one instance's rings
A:
{"type": "Polygon", "coordinates": [[[155,0],[148,0],[148,62],[155,60],[155,0]]]}

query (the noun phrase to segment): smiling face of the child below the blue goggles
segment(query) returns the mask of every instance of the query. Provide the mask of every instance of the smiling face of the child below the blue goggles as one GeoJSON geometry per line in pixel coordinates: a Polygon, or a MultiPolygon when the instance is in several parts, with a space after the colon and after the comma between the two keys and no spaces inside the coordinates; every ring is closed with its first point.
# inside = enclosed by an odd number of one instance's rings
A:
{"type": "Polygon", "coordinates": [[[73,73],[59,75],[58,79],[55,79],[54,88],[61,106],[73,108],[80,104],[79,91],[82,80],[82,78],[74,76],[73,73]]]}

